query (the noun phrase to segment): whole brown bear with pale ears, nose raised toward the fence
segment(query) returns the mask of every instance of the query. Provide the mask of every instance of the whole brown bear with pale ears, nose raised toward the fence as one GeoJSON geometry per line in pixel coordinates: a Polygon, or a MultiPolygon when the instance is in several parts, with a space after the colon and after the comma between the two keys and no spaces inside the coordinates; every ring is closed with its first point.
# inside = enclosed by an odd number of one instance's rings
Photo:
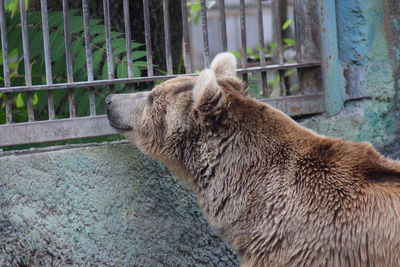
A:
{"type": "Polygon", "coordinates": [[[246,95],[236,60],[107,98],[110,124],[195,191],[241,266],[400,266],[400,162],[246,95]]]}

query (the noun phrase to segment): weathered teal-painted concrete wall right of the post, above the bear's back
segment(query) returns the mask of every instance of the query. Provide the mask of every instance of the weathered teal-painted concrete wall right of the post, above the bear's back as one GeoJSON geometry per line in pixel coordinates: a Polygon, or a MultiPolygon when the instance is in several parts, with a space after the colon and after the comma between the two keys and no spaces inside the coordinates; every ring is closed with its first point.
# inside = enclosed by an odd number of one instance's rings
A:
{"type": "Polygon", "coordinates": [[[327,136],[369,141],[400,156],[399,3],[335,1],[339,70],[330,78],[343,81],[334,90],[343,91],[344,108],[336,116],[324,114],[302,121],[304,126],[327,136]]]}

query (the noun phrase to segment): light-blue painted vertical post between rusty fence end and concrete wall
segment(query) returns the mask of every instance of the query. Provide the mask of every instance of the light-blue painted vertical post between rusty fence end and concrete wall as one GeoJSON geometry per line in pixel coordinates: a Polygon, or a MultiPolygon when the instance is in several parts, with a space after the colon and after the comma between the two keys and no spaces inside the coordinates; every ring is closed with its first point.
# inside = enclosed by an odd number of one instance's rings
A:
{"type": "Polygon", "coordinates": [[[344,103],[343,68],[339,60],[335,0],[321,0],[321,55],[325,88],[325,108],[339,113],[344,103]]]}

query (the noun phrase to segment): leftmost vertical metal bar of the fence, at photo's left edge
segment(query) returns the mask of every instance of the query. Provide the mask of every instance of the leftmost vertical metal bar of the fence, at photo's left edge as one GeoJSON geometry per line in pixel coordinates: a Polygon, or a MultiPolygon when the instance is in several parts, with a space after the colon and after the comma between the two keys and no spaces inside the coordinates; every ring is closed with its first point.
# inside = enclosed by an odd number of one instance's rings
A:
{"type": "MultiPolygon", "coordinates": [[[[8,67],[8,43],[7,43],[7,26],[4,12],[4,0],[0,2],[0,32],[1,32],[1,50],[3,51],[3,75],[4,87],[10,87],[10,69],[8,67]]],[[[12,122],[12,106],[11,95],[5,94],[6,100],[6,123],[12,122]]]]}

